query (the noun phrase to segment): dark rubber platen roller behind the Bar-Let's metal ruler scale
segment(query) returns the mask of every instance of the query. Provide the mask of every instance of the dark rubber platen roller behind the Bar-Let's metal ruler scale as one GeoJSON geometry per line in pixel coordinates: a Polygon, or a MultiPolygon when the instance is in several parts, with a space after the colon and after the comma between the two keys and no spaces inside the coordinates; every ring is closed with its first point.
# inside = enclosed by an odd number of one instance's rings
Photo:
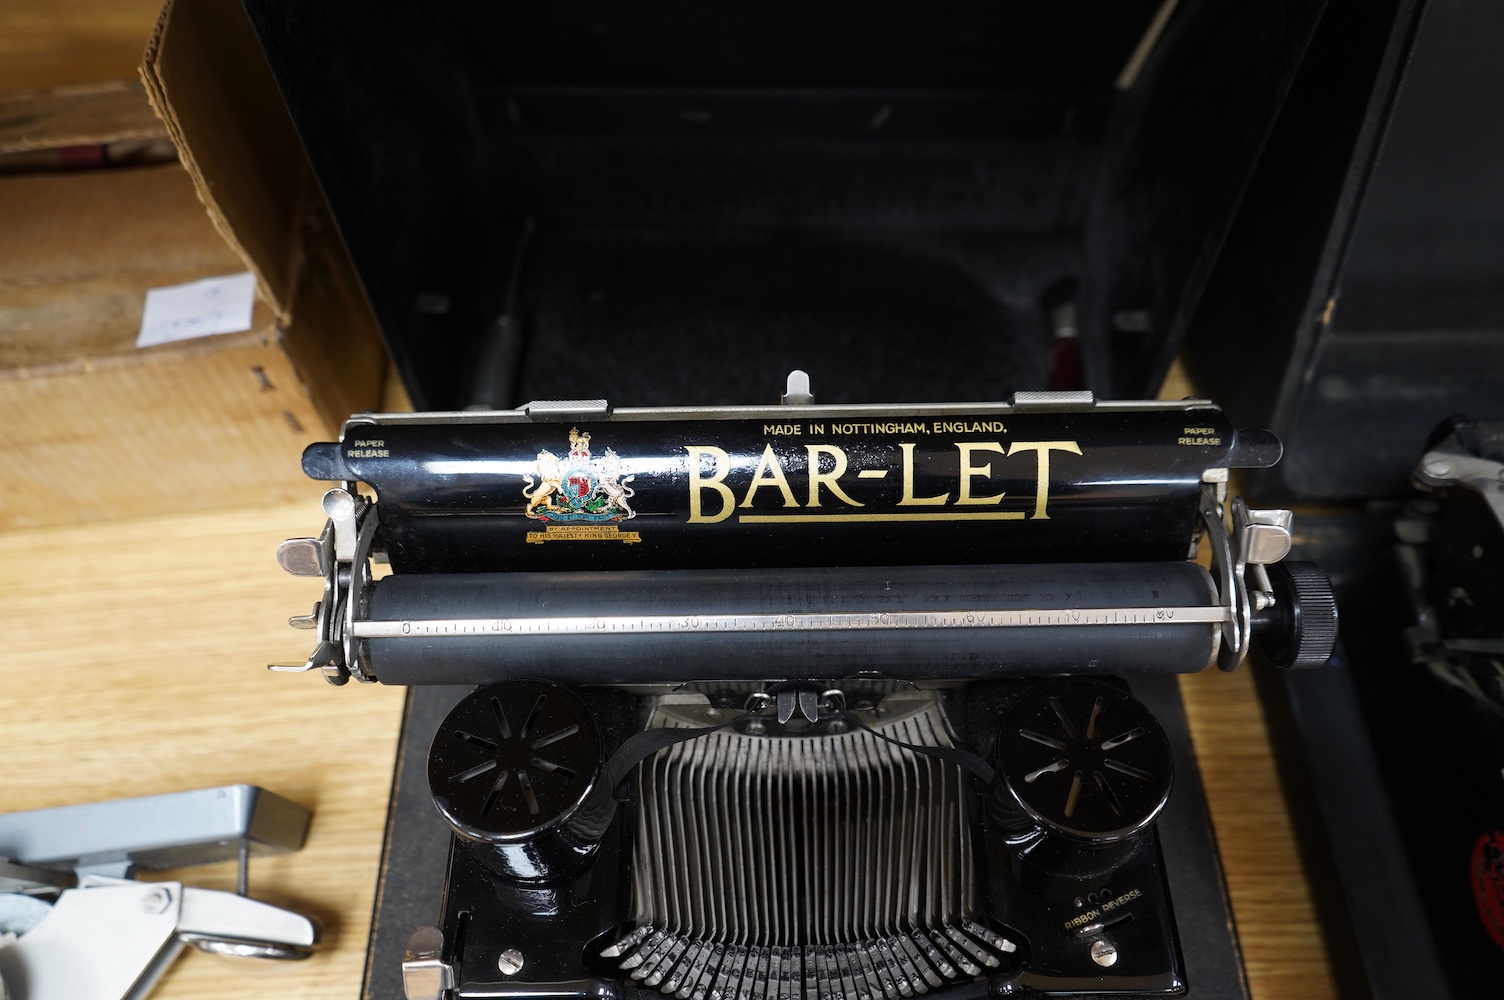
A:
{"type": "Polygon", "coordinates": [[[1012,627],[414,633],[364,639],[362,645],[370,672],[388,684],[480,684],[508,677],[627,684],[838,678],[863,671],[910,680],[1179,674],[1208,665],[1220,627],[1175,621],[1173,609],[1211,605],[1211,577],[1191,562],[408,574],[373,586],[371,621],[1145,608],[1167,611],[1167,617],[1012,627]]]}

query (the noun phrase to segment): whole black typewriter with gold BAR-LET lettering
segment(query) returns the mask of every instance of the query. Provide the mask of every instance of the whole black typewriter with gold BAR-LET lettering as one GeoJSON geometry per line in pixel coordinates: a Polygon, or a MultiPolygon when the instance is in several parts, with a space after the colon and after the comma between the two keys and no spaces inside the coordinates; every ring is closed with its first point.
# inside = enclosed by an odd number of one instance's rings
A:
{"type": "Polygon", "coordinates": [[[1244,995],[1175,675],[1331,651],[1227,496],[1278,457],[1206,400],[803,373],[352,417],[274,669],[412,686],[365,995],[1244,995]]]}

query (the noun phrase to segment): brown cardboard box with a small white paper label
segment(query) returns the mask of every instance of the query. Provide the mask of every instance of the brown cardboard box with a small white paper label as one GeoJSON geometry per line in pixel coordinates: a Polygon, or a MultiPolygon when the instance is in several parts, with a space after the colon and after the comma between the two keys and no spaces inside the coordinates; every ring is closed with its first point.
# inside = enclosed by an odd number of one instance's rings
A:
{"type": "Polygon", "coordinates": [[[141,84],[0,98],[0,529],[305,496],[302,447],[378,405],[385,352],[301,155],[253,171],[278,242],[242,239],[191,161],[108,165],[170,125],[141,84]],[[250,331],[135,347],[147,289],[245,269],[250,331]]]}

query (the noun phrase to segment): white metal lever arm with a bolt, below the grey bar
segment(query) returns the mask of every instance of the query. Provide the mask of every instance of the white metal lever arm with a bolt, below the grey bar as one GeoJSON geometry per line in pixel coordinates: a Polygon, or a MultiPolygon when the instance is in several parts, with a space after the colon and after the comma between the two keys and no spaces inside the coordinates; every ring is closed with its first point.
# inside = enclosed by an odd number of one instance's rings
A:
{"type": "Polygon", "coordinates": [[[212,889],[84,877],[0,947],[8,1000],[141,1000],[185,944],[224,955],[307,958],[307,917],[212,889]]]}

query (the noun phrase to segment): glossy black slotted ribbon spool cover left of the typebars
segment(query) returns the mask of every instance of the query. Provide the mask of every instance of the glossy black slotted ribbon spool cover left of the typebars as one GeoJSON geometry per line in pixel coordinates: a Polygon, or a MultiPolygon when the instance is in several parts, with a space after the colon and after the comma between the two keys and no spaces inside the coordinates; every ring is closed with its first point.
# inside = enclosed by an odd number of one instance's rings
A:
{"type": "Polygon", "coordinates": [[[472,692],[429,749],[439,812],[487,868],[520,881],[567,875],[594,853],[605,827],[591,815],[600,770],[594,714],[543,680],[472,692]]]}

